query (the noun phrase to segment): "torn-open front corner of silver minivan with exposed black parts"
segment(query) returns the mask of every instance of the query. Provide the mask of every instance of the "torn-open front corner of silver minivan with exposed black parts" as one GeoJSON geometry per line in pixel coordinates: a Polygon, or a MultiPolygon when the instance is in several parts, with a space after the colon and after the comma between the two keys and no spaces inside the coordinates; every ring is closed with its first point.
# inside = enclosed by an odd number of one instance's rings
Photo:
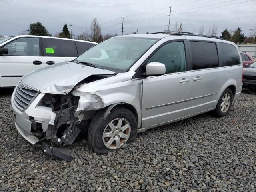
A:
{"type": "MultiPolygon", "coordinates": [[[[69,155],[69,146],[73,144],[78,134],[86,134],[90,119],[93,118],[96,113],[95,110],[103,108],[101,104],[93,104],[91,94],[85,94],[82,96],[83,101],[80,101],[80,96],[58,95],[58,94],[45,94],[44,98],[40,102],[40,106],[50,107],[56,114],[54,125],[49,125],[46,130],[35,121],[32,123],[32,134],[34,134],[40,140],[42,148],[49,155],[58,156],[64,160],[70,161],[73,158],[69,155]],[[88,99],[88,102],[84,101],[84,98],[88,99]],[[90,102],[89,102],[90,101],[90,102]],[[86,109],[93,111],[78,111],[80,103],[87,103],[88,106],[83,106],[86,109]],[[82,123],[81,123],[82,122],[82,123]]],[[[94,96],[92,96],[94,97],[94,96]]],[[[95,100],[94,100],[95,101],[95,100]]]]}

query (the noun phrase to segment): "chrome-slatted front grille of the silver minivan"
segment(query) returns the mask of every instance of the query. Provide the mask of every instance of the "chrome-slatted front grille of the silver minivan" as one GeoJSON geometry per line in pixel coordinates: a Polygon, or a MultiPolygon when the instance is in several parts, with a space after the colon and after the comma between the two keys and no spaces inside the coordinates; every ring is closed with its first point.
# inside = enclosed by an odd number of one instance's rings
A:
{"type": "Polygon", "coordinates": [[[34,97],[38,94],[37,91],[26,87],[22,82],[18,83],[14,94],[14,104],[22,111],[24,111],[34,97]]]}

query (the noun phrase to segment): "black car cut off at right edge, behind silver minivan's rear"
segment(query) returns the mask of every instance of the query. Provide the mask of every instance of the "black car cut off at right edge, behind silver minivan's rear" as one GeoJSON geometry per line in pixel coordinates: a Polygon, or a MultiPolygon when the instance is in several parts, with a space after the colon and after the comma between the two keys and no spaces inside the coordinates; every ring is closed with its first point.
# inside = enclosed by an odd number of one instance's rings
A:
{"type": "Polygon", "coordinates": [[[256,62],[244,68],[243,85],[248,88],[256,88],[256,62]]]}

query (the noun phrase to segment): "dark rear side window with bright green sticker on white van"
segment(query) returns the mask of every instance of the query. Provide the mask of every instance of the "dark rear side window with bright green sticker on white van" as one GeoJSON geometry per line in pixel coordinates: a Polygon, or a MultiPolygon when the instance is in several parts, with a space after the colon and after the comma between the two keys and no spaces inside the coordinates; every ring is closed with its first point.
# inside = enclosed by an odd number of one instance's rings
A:
{"type": "Polygon", "coordinates": [[[72,40],[43,38],[44,56],[77,57],[76,44],[72,40]],[[66,48],[65,48],[66,47],[66,48]]]}

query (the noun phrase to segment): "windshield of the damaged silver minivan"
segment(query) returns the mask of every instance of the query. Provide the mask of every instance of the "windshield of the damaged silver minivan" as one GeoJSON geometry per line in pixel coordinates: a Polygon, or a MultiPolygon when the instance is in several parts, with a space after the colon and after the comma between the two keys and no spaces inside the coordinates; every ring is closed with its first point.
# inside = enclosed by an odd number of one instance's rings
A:
{"type": "Polygon", "coordinates": [[[76,61],[115,72],[126,72],[158,39],[114,37],[93,46],[76,61]]]}

